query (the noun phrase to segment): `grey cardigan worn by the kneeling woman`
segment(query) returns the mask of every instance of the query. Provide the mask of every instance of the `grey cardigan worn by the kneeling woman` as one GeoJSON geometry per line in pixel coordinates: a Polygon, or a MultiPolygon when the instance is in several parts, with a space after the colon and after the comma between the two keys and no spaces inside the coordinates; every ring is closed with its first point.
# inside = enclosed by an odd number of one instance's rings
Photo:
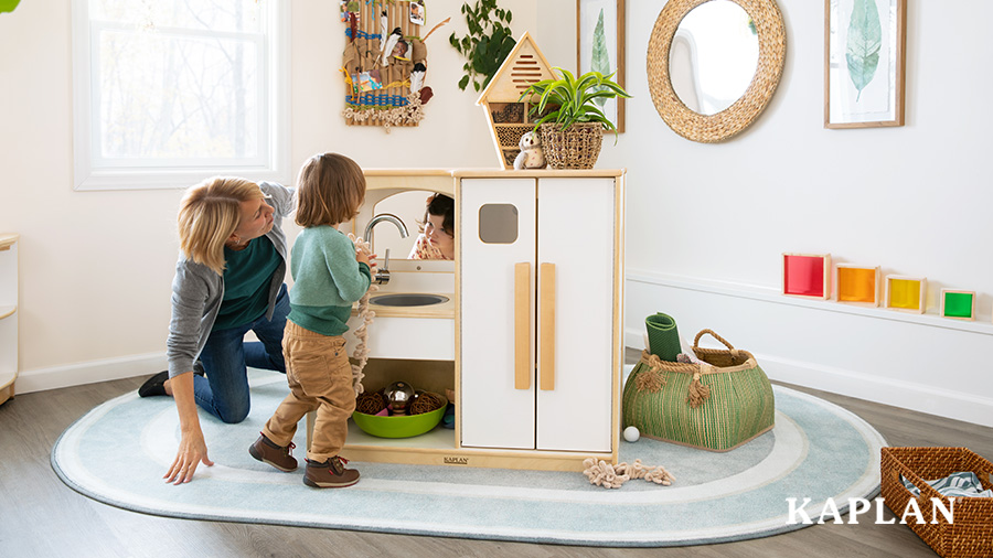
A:
{"type": "MultiPolygon", "coordinates": [[[[273,242],[282,258],[269,286],[266,318],[271,320],[276,296],[286,277],[287,248],[282,217],[296,210],[297,196],[296,189],[281,184],[260,182],[258,185],[266,195],[271,196],[268,203],[276,210],[273,214],[273,229],[265,236],[273,242]]],[[[181,253],[175,264],[175,277],[172,279],[172,320],[169,323],[169,339],[166,341],[170,378],[193,369],[193,362],[211,336],[223,299],[224,277],[203,264],[186,259],[181,253]]]]}

